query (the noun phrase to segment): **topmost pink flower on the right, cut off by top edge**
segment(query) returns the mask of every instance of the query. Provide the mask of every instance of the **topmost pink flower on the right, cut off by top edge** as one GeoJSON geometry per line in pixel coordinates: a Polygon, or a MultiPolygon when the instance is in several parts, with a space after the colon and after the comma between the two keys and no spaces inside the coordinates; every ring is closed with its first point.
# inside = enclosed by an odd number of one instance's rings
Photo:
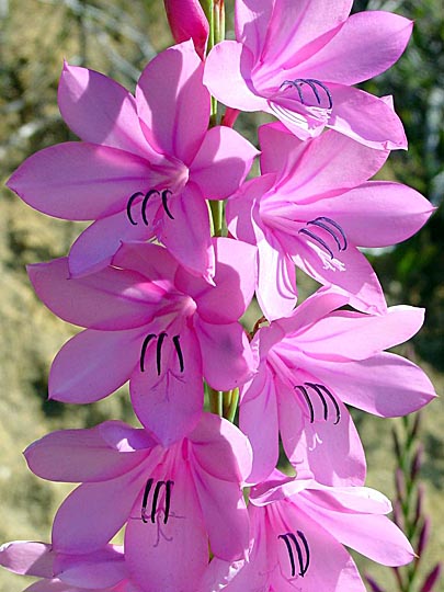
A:
{"type": "Polygon", "coordinates": [[[352,3],[238,0],[237,41],[213,48],[204,83],[229,107],[271,113],[304,140],[328,126],[372,148],[406,148],[390,105],[352,84],[399,58],[412,22],[382,11],[349,16],[352,3]]]}

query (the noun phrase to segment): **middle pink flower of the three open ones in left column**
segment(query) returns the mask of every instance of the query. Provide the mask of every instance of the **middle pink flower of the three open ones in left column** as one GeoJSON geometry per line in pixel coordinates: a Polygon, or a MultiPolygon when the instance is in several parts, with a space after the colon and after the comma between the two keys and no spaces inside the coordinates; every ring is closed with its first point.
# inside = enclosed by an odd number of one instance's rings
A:
{"type": "Polygon", "coordinates": [[[255,362],[238,319],[254,291],[255,248],[213,242],[214,286],[151,243],[124,244],[114,266],[82,277],[70,277],[67,259],[31,265],[45,305],[87,327],[56,356],[49,398],[92,402],[129,379],[139,420],[168,445],[201,418],[202,376],[218,390],[251,378],[255,362]]]}

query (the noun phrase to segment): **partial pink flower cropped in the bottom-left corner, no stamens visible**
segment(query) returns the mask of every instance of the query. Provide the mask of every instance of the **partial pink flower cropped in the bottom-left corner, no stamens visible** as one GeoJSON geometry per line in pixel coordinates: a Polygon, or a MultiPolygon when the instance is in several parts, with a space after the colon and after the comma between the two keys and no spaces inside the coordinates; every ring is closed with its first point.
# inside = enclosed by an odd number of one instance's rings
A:
{"type": "Polygon", "coordinates": [[[0,547],[0,565],[21,576],[43,578],[26,592],[143,592],[129,580],[123,547],[114,545],[67,555],[45,543],[14,540],[0,547]]]}

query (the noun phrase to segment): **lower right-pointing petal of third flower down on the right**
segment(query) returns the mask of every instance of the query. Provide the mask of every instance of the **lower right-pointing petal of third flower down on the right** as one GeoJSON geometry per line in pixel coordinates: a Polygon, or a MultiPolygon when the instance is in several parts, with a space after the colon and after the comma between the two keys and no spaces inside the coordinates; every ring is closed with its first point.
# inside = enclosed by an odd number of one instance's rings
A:
{"type": "Polygon", "coordinates": [[[386,352],[360,362],[322,360],[312,364],[311,372],[344,402],[384,418],[418,411],[436,396],[421,368],[386,352]]]}

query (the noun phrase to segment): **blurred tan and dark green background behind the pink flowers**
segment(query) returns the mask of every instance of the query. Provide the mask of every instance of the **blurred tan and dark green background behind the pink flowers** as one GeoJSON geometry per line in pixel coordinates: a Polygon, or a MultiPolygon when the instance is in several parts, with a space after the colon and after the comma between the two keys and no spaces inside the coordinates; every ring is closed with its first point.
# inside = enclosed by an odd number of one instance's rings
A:
{"type": "MultiPolygon", "coordinates": [[[[231,2],[227,4],[229,10],[231,2]]],[[[415,21],[399,64],[363,88],[377,95],[394,94],[409,138],[409,151],[394,152],[380,178],[411,185],[437,210],[414,238],[368,257],[390,304],[426,308],[422,332],[398,351],[421,364],[440,394],[444,386],[443,4],[442,0],[354,2],[354,11],[367,9],[394,11],[415,21]]],[[[228,37],[234,37],[231,15],[227,29],[228,37]]],[[[82,226],[32,210],[3,183],[31,153],[76,139],[57,109],[64,58],[104,72],[133,91],[147,61],[171,44],[161,0],[0,0],[0,543],[49,540],[54,512],[71,489],[27,471],[21,453],[31,442],[53,430],[92,426],[109,418],[134,422],[126,389],[83,407],[46,400],[50,362],[76,328],[53,317],[37,301],[25,265],[65,255],[82,226]]],[[[242,115],[236,127],[255,141],[259,121],[242,115]]],[[[299,282],[303,294],[312,291],[303,274],[299,282]]],[[[391,499],[399,465],[392,431],[397,431],[401,448],[405,439],[410,442],[410,452],[401,459],[405,475],[411,473],[418,446],[423,447],[423,462],[412,485],[402,483],[398,471],[400,498],[406,497],[402,488],[411,490],[406,503],[411,505],[407,513],[413,515],[407,528],[412,538],[417,540],[421,530],[426,530],[425,514],[431,524],[418,573],[403,590],[419,592],[420,582],[444,556],[443,401],[430,405],[418,425],[414,418],[403,422],[360,412],[353,415],[367,452],[367,485],[391,499]],[[423,510],[414,517],[419,479],[423,510]]],[[[374,576],[386,591],[398,590],[390,568],[357,560],[362,571],[374,576]]],[[[0,592],[19,592],[25,587],[25,579],[0,571],[0,592]]],[[[443,591],[444,584],[434,590],[443,591]]]]}

